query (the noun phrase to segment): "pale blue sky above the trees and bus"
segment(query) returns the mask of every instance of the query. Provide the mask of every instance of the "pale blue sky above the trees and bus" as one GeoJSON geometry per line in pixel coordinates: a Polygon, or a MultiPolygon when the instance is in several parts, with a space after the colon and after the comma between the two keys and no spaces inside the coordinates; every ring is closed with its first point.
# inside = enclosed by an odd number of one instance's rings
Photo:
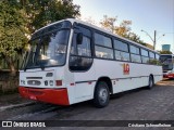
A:
{"type": "Polygon", "coordinates": [[[157,49],[161,44],[172,46],[174,53],[174,0],[73,0],[80,5],[83,18],[91,17],[99,23],[103,15],[117,16],[117,23],[123,20],[132,21],[132,30],[140,36],[145,42],[151,39],[142,31],[146,30],[152,38],[157,30],[157,49]]]}

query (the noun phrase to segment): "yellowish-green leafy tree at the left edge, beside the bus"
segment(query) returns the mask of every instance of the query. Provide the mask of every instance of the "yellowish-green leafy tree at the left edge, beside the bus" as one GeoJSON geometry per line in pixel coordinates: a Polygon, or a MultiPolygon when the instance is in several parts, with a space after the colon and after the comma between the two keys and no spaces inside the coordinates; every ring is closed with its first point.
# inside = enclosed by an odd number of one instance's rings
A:
{"type": "Polygon", "coordinates": [[[23,10],[16,0],[0,1],[0,55],[5,60],[12,74],[15,73],[14,57],[27,42],[23,10]]]}

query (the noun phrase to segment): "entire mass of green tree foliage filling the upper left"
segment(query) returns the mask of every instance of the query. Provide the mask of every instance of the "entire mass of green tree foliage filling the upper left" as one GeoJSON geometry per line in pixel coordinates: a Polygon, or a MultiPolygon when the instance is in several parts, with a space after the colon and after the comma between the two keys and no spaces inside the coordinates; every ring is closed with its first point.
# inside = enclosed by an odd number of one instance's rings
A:
{"type": "Polygon", "coordinates": [[[27,37],[52,22],[79,16],[73,0],[1,0],[0,57],[15,72],[14,55],[21,53],[27,37]]]}

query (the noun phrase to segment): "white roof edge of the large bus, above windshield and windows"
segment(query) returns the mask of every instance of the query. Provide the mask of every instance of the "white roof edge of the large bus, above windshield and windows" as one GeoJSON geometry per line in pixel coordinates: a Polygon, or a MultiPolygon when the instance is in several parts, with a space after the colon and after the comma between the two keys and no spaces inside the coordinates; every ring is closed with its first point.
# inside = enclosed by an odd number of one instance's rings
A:
{"type": "MultiPolygon", "coordinates": [[[[39,30],[41,30],[41,29],[44,29],[44,28],[46,28],[46,27],[49,27],[49,26],[51,26],[51,25],[58,24],[58,23],[60,23],[60,22],[63,22],[63,21],[70,21],[72,24],[73,24],[73,23],[78,23],[78,24],[83,24],[83,25],[89,26],[89,27],[91,27],[91,28],[94,28],[94,29],[103,31],[103,32],[105,32],[105,34],[108,34],[108,35],[111,35],[111,36],[113,36],[113,37],[117,37],[117,38],[120,38],[120,39],[122,39],[122,40],[125,40],[125,41],[127,41],[127,42],[130,42],[130,43],[134,43],[134,44],[136,44],[136,46],[139,46],[139,47],[141,47],[141,48],[144,48],[144,49],[147,49],[147,50],[150,50],[150,51],[152,51],[152,52],[159,53],[159,52],[157,52],[157,51],[154,51],[154,50],[152,50],[152,49],[149,49],[149,48],[147,48],[147,47],[145,47],[145,46],[142,46],[142,44],[140,44],[140,43],[137,43],[137,42],[135,42],[135,41],[132,41],[132,40],[129,40],[129,39],[126,39],[126,38],[124,38],[124,37],[121,37],[121,36],[116,35],[116,34],[112,34],[112,32],[110,32],[110,31],[108,31],[108,30],[105,30],[105,29],[102,29],[102,28],[100,28],[100,27],[97,27],[97,26],[95,26],[95,25],[92,25],[92,24],[83,22],[83,21],[80,21],[80,20],[75,20],[75,18],[66,18],[66,20],[62,20],[62,21],[59,21],[59,22],[51,23],[51,24],[49,24],[49,25],[47,25],[47,26],[45,26],[45,27],[41,27],[40,29],[36,30],[35,32],[37,32],[37,31],[39,31],[39,30]]],[[[35,32],[34,32],[34,34],[35,34],[35,32]]],[[[33,34],[33,35],[34,35],[34,34],[33,34]]]]}

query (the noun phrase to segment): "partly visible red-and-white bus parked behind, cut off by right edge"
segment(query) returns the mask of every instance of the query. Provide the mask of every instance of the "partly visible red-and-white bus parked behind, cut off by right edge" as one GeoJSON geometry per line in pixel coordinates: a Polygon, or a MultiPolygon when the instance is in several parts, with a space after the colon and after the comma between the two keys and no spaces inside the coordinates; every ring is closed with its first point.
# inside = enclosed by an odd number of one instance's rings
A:
{"type": "Polygon", "coordinates": [[[161,54],[160,61],[164,78],[174,78],[174,54],[161,54]]]}

